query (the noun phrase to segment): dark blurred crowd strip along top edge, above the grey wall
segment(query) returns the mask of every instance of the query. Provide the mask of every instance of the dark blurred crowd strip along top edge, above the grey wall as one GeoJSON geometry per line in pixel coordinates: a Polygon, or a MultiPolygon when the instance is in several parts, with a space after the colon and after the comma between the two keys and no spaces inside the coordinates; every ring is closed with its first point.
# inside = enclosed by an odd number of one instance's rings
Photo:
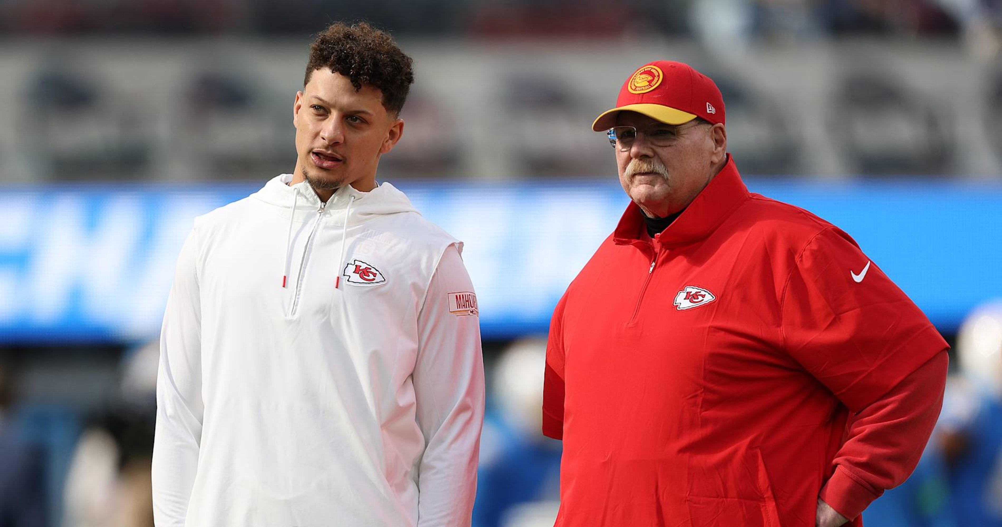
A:
{"type": "Polygon", "coordinates": [[[0,30],[40,34],[302,34],[317,21],[366,19],[400,35],[620,37],[692,34],[708,18],[768,39],[855,34],[968,35],[1002,18],[993,0],[7,0],[0,30]]]}

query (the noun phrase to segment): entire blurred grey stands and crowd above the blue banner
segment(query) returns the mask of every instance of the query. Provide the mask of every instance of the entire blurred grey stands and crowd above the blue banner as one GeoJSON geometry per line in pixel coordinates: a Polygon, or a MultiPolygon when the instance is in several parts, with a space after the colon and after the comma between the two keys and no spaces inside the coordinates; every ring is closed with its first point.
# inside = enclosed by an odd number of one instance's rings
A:
{"type": "Polygon", "coordinates": [[[0,180],[288,169],[303,36],[335,17],[393,28],[418,65],[385,177],[611,173],[595,80],[662,54],[717,80],[745,173],[1002,173],[994,0],[395,4],[0,2],[0,180]]]}

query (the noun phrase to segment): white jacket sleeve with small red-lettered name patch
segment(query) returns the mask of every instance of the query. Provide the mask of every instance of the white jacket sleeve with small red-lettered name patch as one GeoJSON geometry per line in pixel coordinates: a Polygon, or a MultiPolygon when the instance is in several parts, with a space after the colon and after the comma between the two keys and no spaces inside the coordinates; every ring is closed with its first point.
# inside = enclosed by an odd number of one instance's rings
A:
{"type": "Polygon", "coordinates": [[[429,284],[418,333],[414,391],[425,437],[418,527],[468,526],[484,421],[484,365],[476,297],[455,244],[429,284]]]}

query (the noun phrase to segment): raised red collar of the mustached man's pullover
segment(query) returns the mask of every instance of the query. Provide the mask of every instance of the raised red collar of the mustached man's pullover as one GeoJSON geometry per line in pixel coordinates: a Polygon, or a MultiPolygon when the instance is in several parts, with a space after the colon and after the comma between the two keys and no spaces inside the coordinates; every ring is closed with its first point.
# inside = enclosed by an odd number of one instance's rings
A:
{"type": "MultiPolygon", "coordinates": [[[[692,200],[682,213],[660,234],[657,241],[665,246],[680,246],[698,241],[713,231],[742,201],[748,198],[748,189],[737,173],[734,160],[727,155],[727,163],[692,200]]],[[[618,245],[647,244],[643,213],[630,201],[612,232],[618,245]]]]}

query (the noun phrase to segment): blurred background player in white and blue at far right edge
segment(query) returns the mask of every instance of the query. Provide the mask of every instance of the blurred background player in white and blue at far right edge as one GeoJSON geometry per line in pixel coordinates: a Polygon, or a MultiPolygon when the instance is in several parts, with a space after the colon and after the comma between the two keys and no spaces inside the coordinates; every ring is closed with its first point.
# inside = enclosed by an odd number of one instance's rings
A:
{"type": "Polygon", "coordinates": [[[939,427],[951,506],[965,527],[1002,526],[1002,300],[975,308],[957,334],[959,372],[939,427]]]}

